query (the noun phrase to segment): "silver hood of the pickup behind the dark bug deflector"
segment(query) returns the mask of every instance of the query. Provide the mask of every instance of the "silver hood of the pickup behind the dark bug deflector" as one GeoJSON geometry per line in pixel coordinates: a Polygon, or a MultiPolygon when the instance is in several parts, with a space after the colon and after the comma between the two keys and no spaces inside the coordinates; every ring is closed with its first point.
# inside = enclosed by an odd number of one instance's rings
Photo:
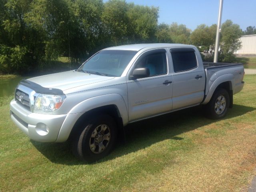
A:
{"type": "Polygon", "coordinates": [[[29,78],[28,80],[39,84],[42,87],[57,88],[62,91],[78,86],[93,84],[106,80],[113,79],[114,77],[100,76],[88,74],[84,72],[77,72],[75,70],[54,73],[44,76],[29,78]]]}

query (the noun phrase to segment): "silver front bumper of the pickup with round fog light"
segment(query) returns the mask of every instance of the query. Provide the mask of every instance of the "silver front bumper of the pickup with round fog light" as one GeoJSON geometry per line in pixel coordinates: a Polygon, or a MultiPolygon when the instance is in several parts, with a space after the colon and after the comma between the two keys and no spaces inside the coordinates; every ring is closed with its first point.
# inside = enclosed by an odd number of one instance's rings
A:
{"type": "Polygon", "coordinates": [[[15,100],[10,103],[12,121],[32,140],[40,142],[55,142],[60,128],[67,116],[32,113],[15,100]]]}

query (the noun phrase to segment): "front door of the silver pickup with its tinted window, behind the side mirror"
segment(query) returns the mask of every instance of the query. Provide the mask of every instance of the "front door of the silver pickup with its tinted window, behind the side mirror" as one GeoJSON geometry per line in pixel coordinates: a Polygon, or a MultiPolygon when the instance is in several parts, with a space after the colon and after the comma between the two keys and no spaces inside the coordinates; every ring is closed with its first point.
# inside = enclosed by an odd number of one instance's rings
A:
{"type": "Polygon", "coordinates": [[[168,74],[166,49],[150,50],[142,54],[129,74],[132,74],[134,68],[140,67],[149,68],[150,76],[127,79],[130,122],[172,109],[172,75],[168,74]]]}

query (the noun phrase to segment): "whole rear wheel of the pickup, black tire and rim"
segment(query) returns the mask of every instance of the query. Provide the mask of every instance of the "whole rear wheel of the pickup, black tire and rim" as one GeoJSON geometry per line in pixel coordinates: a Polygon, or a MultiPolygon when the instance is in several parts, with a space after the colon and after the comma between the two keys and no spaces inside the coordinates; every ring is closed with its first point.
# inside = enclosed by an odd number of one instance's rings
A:
{"type": "Polygon", "coordinates": [[[230,105],[229,94],[225,89],[218,89],[211,100],[205,105],[205,113],[210,119],[221,119],[226,116],[230,105]]]}

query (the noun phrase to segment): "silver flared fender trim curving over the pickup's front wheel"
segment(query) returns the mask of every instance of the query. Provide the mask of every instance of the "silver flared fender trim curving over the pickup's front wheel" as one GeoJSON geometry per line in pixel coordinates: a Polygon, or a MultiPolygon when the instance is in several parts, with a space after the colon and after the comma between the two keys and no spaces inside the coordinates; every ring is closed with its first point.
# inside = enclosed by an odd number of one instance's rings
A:
{"type": "Polygon", "coordinates": [[[112,104],[116,105],[119,110],[120,116],[122,117],[123,125],[126,125],[128,123],[128,110],[121,95],[106,94],[96,96],[80,102],[79,104],[74,106],[70,110],[70,112],[68,112],[68,115],[66,116],[62,127],[60,128],[60,132],[58,134],[56,142],[64,142],[68,139],[70,132],[74,127],[74,124],[85,112],[88,112],[98,107],[112,104]]]}

